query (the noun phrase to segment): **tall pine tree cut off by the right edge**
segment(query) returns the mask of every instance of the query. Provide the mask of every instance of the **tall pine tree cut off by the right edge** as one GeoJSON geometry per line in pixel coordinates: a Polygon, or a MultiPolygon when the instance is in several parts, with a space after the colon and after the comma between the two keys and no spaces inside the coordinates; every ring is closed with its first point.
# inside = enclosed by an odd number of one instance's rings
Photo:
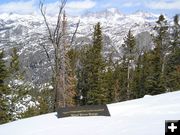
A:
{"type": "Polygon", "coordinates": [[[168,91],[180,89],[180,24],[179,16],[175,15],[171,31],[171,53],[167,59],[165,80],[168,91]]]}

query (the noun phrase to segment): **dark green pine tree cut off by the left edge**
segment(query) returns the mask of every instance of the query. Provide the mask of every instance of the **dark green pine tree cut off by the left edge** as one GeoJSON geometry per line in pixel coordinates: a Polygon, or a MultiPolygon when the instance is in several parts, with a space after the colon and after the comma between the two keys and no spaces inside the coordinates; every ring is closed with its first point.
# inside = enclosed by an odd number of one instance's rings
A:
{"type": "Polygon", "coordinates": [[[7,95],[9,94],[9,88],[6,84],[6,79],[8,77],[8,70],[3,60],[3,51],[0,50],[0,124],[9,121],[8,115],[8,100],[7,95]]]}

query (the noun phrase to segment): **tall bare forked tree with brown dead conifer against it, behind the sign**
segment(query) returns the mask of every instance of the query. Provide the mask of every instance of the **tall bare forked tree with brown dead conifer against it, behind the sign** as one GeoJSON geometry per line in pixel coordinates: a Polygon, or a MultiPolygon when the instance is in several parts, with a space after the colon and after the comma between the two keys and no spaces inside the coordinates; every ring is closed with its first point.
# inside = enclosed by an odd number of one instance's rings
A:
{"type": "MultiPolygon", "coordinates": [[[[51,63],[53,71],[53,87],[55,92],[54,110],[59,107],[73,105],[74,102],[72,98],[75,96],[75,90],[72,88],[74,79],[73,76],[70,75],[71,71],[67,52],[69,46],[73,43],[80,22],[77,23],[75,32],[73,33],[71,41],[69,41],[67,35],[67,20],[64,10],[66,2],[67,0],[60,0],[58,17],[54,28],[50,27],[46,15],[46,8],[44,7],[44,3],[42,1],[40,2],[40,11],[48,31],[49,41],[54,48],[55,55],[54,64],[51,63]]],[[[43,46],[43,48],[46,52],[48,60],[51,61],[47,48],[45,46],[43,46]]]]}

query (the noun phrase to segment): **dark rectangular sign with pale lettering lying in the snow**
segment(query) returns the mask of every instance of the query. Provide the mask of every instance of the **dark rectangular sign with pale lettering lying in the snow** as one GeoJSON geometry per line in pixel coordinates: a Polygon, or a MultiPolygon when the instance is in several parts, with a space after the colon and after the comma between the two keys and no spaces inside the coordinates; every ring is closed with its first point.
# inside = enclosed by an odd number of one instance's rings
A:
{"type": "Polygon", "coordinates": [[[78,107],[59,108],[58,118],[80,116],[110,116],[106,105],[87,105],[78,107]]]}

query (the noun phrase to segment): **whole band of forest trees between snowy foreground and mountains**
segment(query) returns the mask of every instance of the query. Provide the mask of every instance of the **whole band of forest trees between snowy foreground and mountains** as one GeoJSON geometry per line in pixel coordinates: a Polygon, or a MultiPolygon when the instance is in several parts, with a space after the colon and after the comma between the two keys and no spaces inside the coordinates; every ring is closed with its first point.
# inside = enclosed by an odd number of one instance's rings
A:
{"type": "Polygon", "coordinates": [[[59,107],[110,104],[180,90],[178,15],[172,25],[163,15],[159,16],[151,35],[152,44],[147,45],[149,50],[138,48],[129,29],[120,45],[123,54],[114,59],[111,53],[103,54],[101,22],[94,25],[91,44],[74,48],[71,42],[76,39],[69,40],[66,34],[65,13],[59,12],[57,25],[51,30],[43,8],[42,4],[47,38],[55,56],[51,64],[51,87],[39,88],[26,81],[17,48],[11,50],[10,61],[4,59],[5,52],[1,49],[0,124],[54,112],[59,107]],[[33,102],[27,110],[22,110],[22,106],[27,106],[27,98],[33,102]]]}

